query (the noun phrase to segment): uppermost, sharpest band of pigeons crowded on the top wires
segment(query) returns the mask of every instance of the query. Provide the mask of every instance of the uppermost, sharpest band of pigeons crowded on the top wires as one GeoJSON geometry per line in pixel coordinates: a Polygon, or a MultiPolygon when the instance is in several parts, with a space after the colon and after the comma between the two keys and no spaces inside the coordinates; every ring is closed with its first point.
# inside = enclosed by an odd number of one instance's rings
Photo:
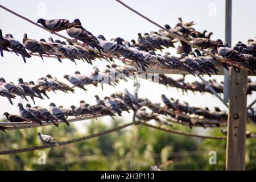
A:
{"type": "Polygon", "coordinates": [[[91,32],[82,27],[79,19],[75,19],[73,22],[69,22],[66,19],[38,19],[38,22],[45,28],[48,28],[51,32],[57,32],[66,30],[67,34],[71,36],[73,42],[65,42],[55,40],[50,37],[47,43],[46,40],[40,39],[39,41],[29,39],[27,34],[23,36],[23,44],[13,38],[13,35],[6,34],[5,37],[0,35],[0,51],[3,56],[3,50],[9,51],[9,48],[13,50],[17,55],[22,55],[24,62],[26,63],[25,57],[31,57],[30,53],[26,51],[39,53],[42,55],[54,55],[57,60],[61,61],[61,58],[68,58],[71,61],[85,60],[92,64],[92,60],[97,58],[112,60],[110,55],[122,57],[134,61],[139,67],[146,71],[145,67],[154,65],[163,69],[176,69],[178,71],[187,71],[193,75],[196,73],[208,74],[217,73],[216,69],[219,66],[223,66],[228,69],[229,66],[233,65],[236,69],[243,67],[250,69],[251,71],[256,70],[256,40],[250,39],[248,44],[238,43],[233,49],[226,47],[220,39],[216,41],[210,40],[210,32],[208,35],[205,32],[195,30],[192,26],[193,22],[183,22],[179,18],[179,23],[171,28],[168,24],[165,27],[172,33],[181,36],[193,44],[202,48],[209,49],[212,54],[218,53],[225,59],[225,63],[216,60],[215,57],[205,55],[199,49],[192,51],[191,46],[187,43],[181,42],[177,49],[178,53],[181,53],[180,57],[176,57],[165,52],[163,55],[156,54],[156,50],[162,51],[164,47],[174,47],[174,43],[178,40],[172,38],[172,36],[164,30],[151,31],[150,34],[145,33],[142,35],[138,34],[138,43],[135,40],[127,42],[122,38],[115,38],[110,41],[106,40],[103,35],[94,36],[91,32]],[[82,46],[77,46],[77,40],[82,42],[82,46]],[[96,48],[98,51],[92,51],[92,49],[86,49],[83,46],[89,46],[96,48]],[[102,53],[106,53],[105,55],[102,53]],[[109,55],[109,56],[106,56],[109,55]]]}

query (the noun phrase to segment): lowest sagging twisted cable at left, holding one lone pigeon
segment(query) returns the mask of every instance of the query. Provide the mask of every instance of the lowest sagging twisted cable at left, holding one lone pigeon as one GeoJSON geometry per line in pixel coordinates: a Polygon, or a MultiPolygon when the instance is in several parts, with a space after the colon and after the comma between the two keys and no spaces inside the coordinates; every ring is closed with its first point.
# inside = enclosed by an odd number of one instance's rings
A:
{"type": "MultiPolygon", "coordinates": [[[[134,125],[134,124],[135,124],[134,122],[130,122],[130,123],[127,123],[125,125],[121,125],[121,126],[115,127],[113,129],[101,131],[100,133],[88,135],[88,136],[81,137],[81,138],[67,140],[65,142],[59,142],[58,144],[60,146],[64,146],[64,145],[70,144],[70,143],[81,142],[83,140],[88,140],[88,139],[91,139],[91,138],[100,137],[102,135],[106,135],[106,134],[112,133],[114,131],[118,131],[118,130],[124,129],[125,127],[131,126],[131,125],[134,125]]],[[[47,145],[43,145],[43,146],[20,148],[20,149],[14,149],[14,150],[5,150],[5,151],[0,151],[0,155],[17,154],[17,153],[21,153],[21,152],[35,151],[35,150],[40,150],[40,149],[44,149],[44,148],[52,148],[52,147],[56,147],[55,144],[47,144],[47,145]]]]}

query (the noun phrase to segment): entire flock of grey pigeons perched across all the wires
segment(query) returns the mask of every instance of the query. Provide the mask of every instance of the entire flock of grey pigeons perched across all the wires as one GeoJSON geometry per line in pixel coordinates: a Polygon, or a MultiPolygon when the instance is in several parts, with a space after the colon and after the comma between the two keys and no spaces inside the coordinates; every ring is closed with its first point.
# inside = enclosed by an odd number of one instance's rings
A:
{"type": "MultiPolygon", "coordinates": [[[[218,54],[225,59],[225,62],[219,61],[216,57],[209,56],[199,49],[192,49],[189,44],[180,40],[174,39],[167,31],[151,31],[150,34],[145,33],[142,35],[138,33],[138,42],[131,40],[131,42],[125,41],[125,39],[117,37],[106,40],[103,35],[94,36],[91,32],[82,27],[79,19],[75,19],[73,22],[69,22],[66,19],[38,19],[38,22],[43,27],[48,28],[52,33],[57,31],[66,30],[67,34],[73,38],[73,41],[61,41],[55,40],[51,37],[48,38],[48,42],[45,39],[39,41],[28,38],[27,34],[24,34],[23,41],[20,43],[14,39],[11,34],[2,35],[0,30],[0,53],[3,57],[3,51],[12,51],[16,55],[21,55],[24,63],[26,58],[30,58],[32,53],[38,53],[43,60],[43,56],[55,56],[58,61],[61,59],[69,59],[76,63],[76,60],[86,61],[92,64],[92,60],[105,59],[107,61],[113,61],[112,56],[119,57],[126,60],[131,60],[138,65],[143,71],[146,71],[146,67],[153,65],[156,68],[163,69],[175,69],[177,71],[186,71],[192,75],[207,74],[218,72],[218,67],[222,66],[226,69],[233,66],[236,69],[242,68],[256,71],[256,40],[250,39],[246,44],[238,42],[238,44],[232,49],[220,39],[216,41],[210,40],[212,32],[206,34],[207,31],[197,31],[192,26],[193,22],[183,22],[179,18],[179,22],[174,28],[171,28],[168,24],[165,27],[172,33],[185,38],[188,41],[193,42],[196,46],[202,49],[208,49],[212,54],[218,54]],[[77,40],[82,44],[77,44],[77,40]],[[175,47],[174,43],[179,42],[177,47],[177,53],[180,56],[171,55],[170,52],[164,52],[162,55],[155,51],[163,51],[164,47],[175,47]],[[89,46],[90,48],[86,48],[89,46]],[[97,50],[96,50],[97,49],[97,50]],[[27,52],[30,51],[30,53],[27,52]]],[[[43,96],[47,96],[47,92],[61,90],[62,92],[74,92],[74,87],[78,87],[86,91],[85,85],[92,84],[97,86],[103,84],[116,85],[119,82],[118,74],[123,74],[125,77],[121,77],[122,80],[126,80],[126,77],[133,77],[130,73],[138,73],[138,69],[132,65],[125,64],[123,66],[112,64],[108,65],[104,71],[100,72],[97,67],[94,67],[90,76],[81,75],[80,72],[75,72],[74,76],[64,75],[73,86],[69,86],[62,81],[53,78],[51,75],[38,78],[36,84],[34,81],[25,82],[22,78],[19,78],[18,85],[13,82],[6,82],[4,78],[0,78],[0,96],[7,97],[11,104],[12,98],[20,96],[26,101],[27,97],[30,97],[35,104],[34,97],[44,99],[43,96]],[[118,77],[118,78],[117,78],[118,77]],[[107,80],[107,81],[106,81],[107,80]]],[[[184,80],[173,80],[170,77],[159,75],[159,83],[175,86],[183,90],[192,90],[198,92],[210,92],[205,84],[200,82],[193,82],[191,84],[185,83],[184,80]]],[[[210,85],[216,90],[217,93],[223,93],[223,82],[218,84],[216,80],[210,80],[210,85]]],[[[256,90],[255,83],[249,83],[247,93],[251,93],[252,90],[256,90]]],[[[171,98],[169,100],[166,96],[162,95],[162,101],[166,105],[164,109],[160,109],[160,105],[156,106],[151,104],[150,101],[144,99],[137,99],[127,90],[125,92],[115,92],[110,97],[105,97],[101,100],[96,97],[97,104],[89,105],[85,101],[80,101],[79,106],[72,105],[71,107],[64,109],[63,106],[56,107],[54,103],[49,105],[49,110],[40,106],[31,107],[30,104],[26,104],[23,107],[22,104],[18,104],[19,114],[13,115],[4,113],[6,118],[10,122],[35,122],[42,125],[43,122],[52,122],[55,126],[58,126],[56,121],[62,121],[69,126],[68,117],[82,117],[85,115],[93,115],[97,118],[97,115],[109,115],[113,117],[115,114],[122,115],[122,111],[133,110],[135,116],[142,121],[150,121],[154,119],[159,125],[172,126],[168,118],[162,119],[160,115],[166,115],[172,118],[171,121],[175,121],[192,126],[203,127],[218,127],[221,123],[226,123],[228,114],[226,111],[221,111],[218,107],[215,111],[209,111],[208,108],[192,107],[188,103],[180,104],[179,100],[171,98]],[[168,111],[166,111],[167,109],[168,111]],[[151,111],[148,111],[151,110],[151,111]],[[170,113],[171,111],[171,113],[170,113]],[[211,122],[198,122],[193,121],[189,115],[196,115],[197,118],[209,119],[209,121],[217,121],[217,123],[211,122]]],[[[250,108],[247,112],[247,118],[250,121],[256,122],[256,110],[250,108]]],[[[1,126],[0,130],[5,131],[5,126],[1,126]]],[[[54,138],[47,137],[47,135],[38,134],[42,141],[48,140],[49,142],[56,142],[54,138]]],[[[47,141],[46,141],[47,142],[47,141]]]]}

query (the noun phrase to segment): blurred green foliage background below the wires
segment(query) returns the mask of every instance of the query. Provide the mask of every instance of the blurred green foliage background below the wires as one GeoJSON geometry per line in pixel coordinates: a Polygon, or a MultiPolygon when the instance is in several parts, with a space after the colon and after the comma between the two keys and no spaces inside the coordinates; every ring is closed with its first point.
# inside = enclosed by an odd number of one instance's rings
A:
{"type": "MultiPolygon", "coordinates": [[[[65,125],[0,133],[0,150],[41,145],[38,131],[64,141],[98,133],[124,123],[115,119],[110,125],[104,118],[85,122],[86,134],[65,125]]],[[[175,125],[174,129],[221,135],[220,129],[189,129],[175,125]]],[[[247,126],[254,131],[255,126],[247,126]]],[[[146,126],[130,126],[117,132],[66,146],[48,148],[46,165],[38,164],[38,152],[0,155],[0,170],[148,170],[149,166],[173,163],[163,170],[225,170],[225,140],[199,139],[165,133],[146,126]],[[217,152],[217,165],[210,165],[209,151],[217,152]]],[[[256,140],[246,140],[246,170],[256,169],[256,140]]]]}

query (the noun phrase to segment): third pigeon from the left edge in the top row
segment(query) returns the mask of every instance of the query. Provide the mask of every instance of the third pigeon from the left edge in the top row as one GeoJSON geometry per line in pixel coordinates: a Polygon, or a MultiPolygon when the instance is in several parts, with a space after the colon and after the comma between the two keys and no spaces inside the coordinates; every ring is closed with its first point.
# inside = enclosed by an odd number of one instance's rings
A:
{"type": "Polygon", "coordinates": [[[44,60],[43,54],[49,55],[48,53],[43,51],[43,47],[38,41],[36,41],[35,39],[28,39],[26,33],[23,36],[23,44],[29,51],[39,53],[42,60],[44,60]]]}

